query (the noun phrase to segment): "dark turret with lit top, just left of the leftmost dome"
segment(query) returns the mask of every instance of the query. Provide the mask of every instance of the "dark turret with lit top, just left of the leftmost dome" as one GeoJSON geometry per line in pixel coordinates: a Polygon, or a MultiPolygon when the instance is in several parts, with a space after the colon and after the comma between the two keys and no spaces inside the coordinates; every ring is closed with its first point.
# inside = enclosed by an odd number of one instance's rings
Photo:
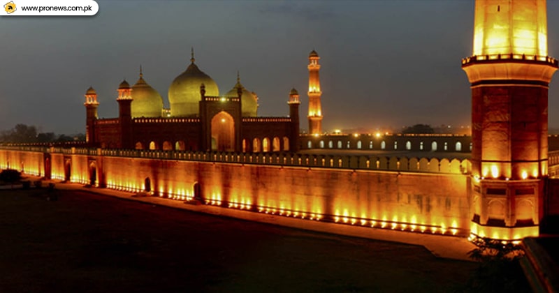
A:
{"type": "MultiPolygon", "coordinates": [[[[142,77],[142,66],[140,66],[140,77],[142,77]]],[[[120,126],[120,149],[133,149],[132,146],[132,89],[130,84],[123,80],[118,86],[118,120],[120,126]]]]}

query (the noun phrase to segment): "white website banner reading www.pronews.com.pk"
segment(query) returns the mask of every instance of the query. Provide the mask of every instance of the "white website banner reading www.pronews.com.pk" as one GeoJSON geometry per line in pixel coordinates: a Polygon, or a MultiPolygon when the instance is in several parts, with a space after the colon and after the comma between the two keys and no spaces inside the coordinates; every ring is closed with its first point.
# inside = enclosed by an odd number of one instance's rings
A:
{"type": "MultiPolygon", "coordinates": [[[[1,1],[1,0],[0,0],[1,1]]],[[[3,16],[92,16],[99,11],[94,0],[4,0],[3,16]]],[[[0,2],[1,3],[1,2],[0,2]]]]}

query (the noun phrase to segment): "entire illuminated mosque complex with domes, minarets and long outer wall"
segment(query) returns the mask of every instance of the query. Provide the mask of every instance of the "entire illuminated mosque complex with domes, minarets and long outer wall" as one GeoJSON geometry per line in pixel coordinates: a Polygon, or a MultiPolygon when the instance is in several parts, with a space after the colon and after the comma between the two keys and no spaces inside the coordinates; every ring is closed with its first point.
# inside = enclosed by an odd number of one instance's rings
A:
{"type": "Polygon", "coordinates": [[[548,137],[549,82],[559,61],[547,52],[546,1],[475,1],[473,52],[461,65],[472,93],[467,140],[321,135],[314,50],[310,135],[300,138],[295,89],[289,116],[258,117],[255,93],[238,78],[219,96],[193,53],[168,89],[170,109],[140,70],[136,84],[117,89],[117,118],[99,119],[96,92],[87,90],[87,147],[2,146],[0,169],[372,229],[505,243],[539,236],[559,219],[559,151],[548,137]],[[375,152],[298,151],[305,145],[375,152]],[[435,158],[435,151],[455,157],[435,158]],[[457,158],[460,151],[469,158],[457,158]]]}

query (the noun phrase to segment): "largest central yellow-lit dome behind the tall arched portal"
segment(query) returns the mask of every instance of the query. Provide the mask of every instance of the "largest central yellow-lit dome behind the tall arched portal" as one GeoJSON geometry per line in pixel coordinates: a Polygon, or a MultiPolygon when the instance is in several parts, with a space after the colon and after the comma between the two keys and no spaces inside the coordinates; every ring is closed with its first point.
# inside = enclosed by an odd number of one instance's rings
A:
{"type": "Polygon", "coordinates": [[[170,115],[172,117],[198,116],[201,84],[205,85],[206,96],[219,96],[219,89],[212,77],[203,73],[194,64],[194,56],[190,61],[191,64],[187,70],[177,76],[169,87],[170,115]]]}

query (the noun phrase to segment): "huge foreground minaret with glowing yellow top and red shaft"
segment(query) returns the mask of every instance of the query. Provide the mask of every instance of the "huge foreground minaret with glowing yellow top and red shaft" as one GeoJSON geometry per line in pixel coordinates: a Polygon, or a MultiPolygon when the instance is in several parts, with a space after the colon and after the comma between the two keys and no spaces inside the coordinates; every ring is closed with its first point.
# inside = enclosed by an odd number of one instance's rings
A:
{"type": "Polygon", "coordinates": [[[471,232],[516,240],[539,234],[547,176],[545,0],[477,0],[472,88],[471,232]]]}

